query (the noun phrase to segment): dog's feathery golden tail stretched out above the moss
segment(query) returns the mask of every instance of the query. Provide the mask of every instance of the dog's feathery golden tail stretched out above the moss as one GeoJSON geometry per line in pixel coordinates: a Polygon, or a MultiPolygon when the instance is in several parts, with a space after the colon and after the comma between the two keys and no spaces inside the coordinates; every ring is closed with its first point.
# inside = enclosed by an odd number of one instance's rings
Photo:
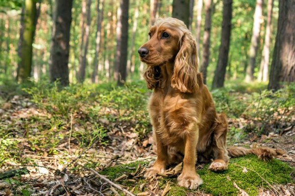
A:
{"type": "Polygon", "coordinates": [[[282,149],[275,149],[269,147],[245,148],[245,147],[230,147],[227,149],[229,156],[239,157],[247,154],[255,154],[259,159],[264,161],[270,160],[273,156],[283,155],[285,153],[282,149]]]}

